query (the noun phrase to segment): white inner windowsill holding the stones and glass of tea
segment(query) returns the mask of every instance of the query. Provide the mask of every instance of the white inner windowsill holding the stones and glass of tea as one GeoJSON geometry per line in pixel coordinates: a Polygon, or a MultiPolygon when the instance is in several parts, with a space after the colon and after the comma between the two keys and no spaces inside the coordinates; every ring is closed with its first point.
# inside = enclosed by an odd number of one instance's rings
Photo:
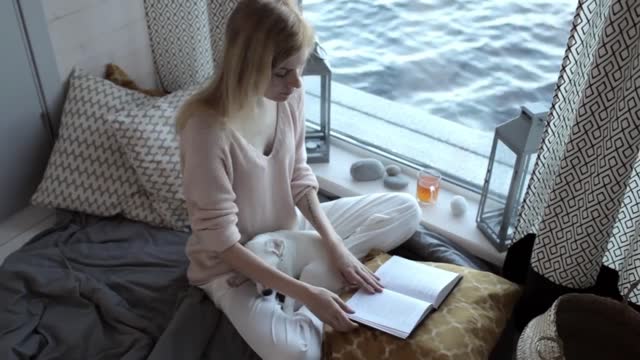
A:
{"type": "MultiPolygon", "coordinates": [[[[359,182],[351,178],[351,164],[363,158],[378,158],[385,165],[389,161],[354,146],[332,139],[329,163],[311,164],[320,188],[336,196],[356,196],[380,192],[392,192],[384,187],[382,180],[359,182]]],[[[403,169],[410,178],[409,186],[402,192],[414,194],[416,188],[415,173],[403,169]]],[[[434,206],[422,207],[422,225],[427,229],[452,240],[475,256],[497,266],[502,266],[505,253],[498,252],[476,227],[478,198],[475,194],[465,193],[450,184],[443,184],[438,202],[434,206]],[[451,199],[463,195],[467,200],[467,211],[461,217],[454,217],[449,210],[451,199]]]]}

